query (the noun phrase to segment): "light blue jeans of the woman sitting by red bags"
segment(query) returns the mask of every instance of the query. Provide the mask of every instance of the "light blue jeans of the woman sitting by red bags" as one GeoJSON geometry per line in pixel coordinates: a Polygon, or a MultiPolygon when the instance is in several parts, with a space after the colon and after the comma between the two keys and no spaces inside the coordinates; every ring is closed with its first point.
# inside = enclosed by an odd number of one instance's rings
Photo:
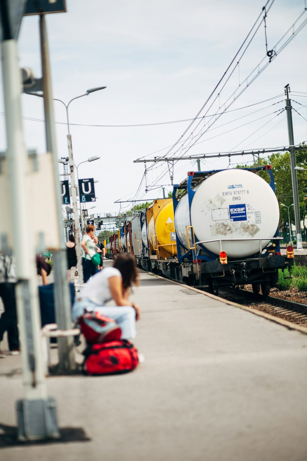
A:
{"type": "Polygon", "coordinates": [[[135,338],[135,310],[132,306],[100,306],[88,298],[81,298],[81,301],[76,300],[73,305],[73,320],[76,321],[85,309],[88,312],[98,311],[102,315],[114,319],[122,330],[121,339],[135,338]]]}

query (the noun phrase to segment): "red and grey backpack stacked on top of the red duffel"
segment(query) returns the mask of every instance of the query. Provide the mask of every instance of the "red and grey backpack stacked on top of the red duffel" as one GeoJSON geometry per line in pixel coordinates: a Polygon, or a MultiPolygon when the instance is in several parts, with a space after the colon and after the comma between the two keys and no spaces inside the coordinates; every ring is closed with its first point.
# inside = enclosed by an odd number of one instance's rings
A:
{"type": "Polygon", "coordinates": [[[99,312],[87,312],[78,319],[78,324],[87,343],[107,343],[120,339],[122,330],[116,321],[99,312]]]}

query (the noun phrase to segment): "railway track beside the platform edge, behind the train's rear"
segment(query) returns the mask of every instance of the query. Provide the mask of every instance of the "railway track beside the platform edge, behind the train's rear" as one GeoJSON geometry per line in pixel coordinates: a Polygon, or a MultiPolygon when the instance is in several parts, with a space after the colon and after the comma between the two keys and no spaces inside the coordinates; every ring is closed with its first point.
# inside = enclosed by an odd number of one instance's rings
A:
{"type": "Polygon", "coordinates": [[[220,289],[219,296],[220,298],[288,320],[296,325],[307,327],[307,305],[305,304],[286,301],[273,296],[264,297],[262,295],[255,295],[247,290],[231,288],[220,289]]]}

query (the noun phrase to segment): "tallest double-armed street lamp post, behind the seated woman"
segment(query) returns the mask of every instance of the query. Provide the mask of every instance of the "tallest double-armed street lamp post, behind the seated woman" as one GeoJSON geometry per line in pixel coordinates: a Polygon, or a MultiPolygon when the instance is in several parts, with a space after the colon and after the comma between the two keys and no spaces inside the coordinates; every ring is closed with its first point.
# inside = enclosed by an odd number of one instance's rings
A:
{"type": "MultiPolygon", "coordinates": [[[[98,87],[98,88],[91,88],[86,91],[83,95],[76,96],[75,98],[72,98],[68,104],[65,104],[64,101],[61,99],[57,98],[52,98],[55,101],[60,101],[62,104],[64,104],[65,109],[66,109],[66,118],[67,118],[67,128],[68,128],[68,135],[67,135],[67,141],[68,141],[68,163],[70,165],[70,180],[71,180],[71,196],[72,196],[72,202],[73,202],[73,213],[74,213],[74,222],[75,222],[75,241],[76,241],[76,247],[77,247],[77,260],[78,260],[78,269],[79,269],[79,279],[80,279],[80,284],[83,284],[83,268],[82,268],[82,251],[81,251],[81,239],[80,239],[80,225],[79,225],[79,214],[78,214],[78,207],[77,207],[77,192],[76,192],[76,187],[75,187],[75,172],[74,172],[74,160],[73,160],[73,152],[72,152],[72,144],[71,144],[71,134],[70,134],[70,124],[69,124],[69,115],[68,115],[68,107],[72,101],[75,99],[79,99],[82,96],[88,96],[94,91],[99,91],[100,89],[104,89],[106,87],[98,87]]],[[[38,95],[37,93],[29,93],[30,95],[34,96],[39,96],[43,98],[43,95],[38,95]]],[[[82,213],[81,213],[82,214],[82,213]]]]}

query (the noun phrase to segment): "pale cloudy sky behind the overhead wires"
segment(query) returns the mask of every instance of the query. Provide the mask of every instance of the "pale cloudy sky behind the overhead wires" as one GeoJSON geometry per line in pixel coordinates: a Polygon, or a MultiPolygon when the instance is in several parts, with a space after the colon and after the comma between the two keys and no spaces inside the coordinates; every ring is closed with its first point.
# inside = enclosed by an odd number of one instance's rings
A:
{"type": "MultiPolygon", "coordinates": [[[[264,4],[263,0],[66,0],[67,12],[46,16],[53,98],[67,104],[87,89],[107,87],[69,106],[75,164],[93,155],[100,157],[78,168],[79,178],[93,177],[98,181],[96,208],[91,213],[127,211],[131,203],[114,202],[150,200],[162,197],[162,186],[166,192],[172,189],[172,168],[168,171],[171,164],[153,165],[147,161],[144,175],[145,164],[133,160],[152,159],[168,152],[174,158],[289,146],[283,111],[284,87],[288,83],[298,112],[293,112],[295,143],[307,140],[307,27],[279,52],[307,20],[306,0],[268,2],[268,7],[272,6],[266,16],[267,48],[271,50],[276,45],[277,55],[263,71],[269,62],[263,21],[258,21],[259,29],[243,56],[251,36],[235,57],[257,18],[263,18],[264,4]],[[233,59],[213,99],[204,106],[233,59]],[[253,77],[256,78],[251,81],[253,77]],[[223,111],[226,113],[221,116],[208,117],[223,111]],[[189,127],[187,120],[198,113],[200,119],[189,127]],[[204,115],[206,118],[202,118],[204,115]],[[178,120],[185,121],[165,123],[178,120]],[[118,126],[140,124],[147,126],[118,126]]],[[[23,18],[18,53],[20,67],[29,67],[41,77],[38,16],[23,18]]],[[[3,150],[6,135],[2,93],[3,150]]],[[[43,101],[22,95],[22,111],[26,147],[41,154],[46,152],[43,101]]],[[[58,158],[66,157],[63,104],[54,101],[54,113],[58,158]]],[[[207,158],[202,160],[201,168],[231,168],[252,160],[251,155],[207,158]]],[[[175,163],[174,183],[180,183],[191,170],[197,170],[196,160],[175,163]]],[[[59,172],[63,172],[62,165],[59,172]]]]}

